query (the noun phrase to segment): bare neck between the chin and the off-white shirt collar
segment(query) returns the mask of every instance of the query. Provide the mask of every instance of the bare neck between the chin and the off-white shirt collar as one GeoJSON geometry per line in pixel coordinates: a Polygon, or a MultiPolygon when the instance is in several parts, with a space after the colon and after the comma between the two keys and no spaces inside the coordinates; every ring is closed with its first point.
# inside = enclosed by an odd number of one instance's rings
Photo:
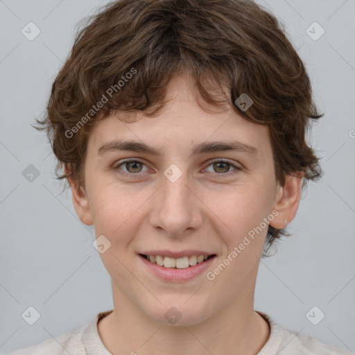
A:
{"type": "Polygon", "coordinates": [[[256,355],[270,336],[269,324],[254,311],[253,302],[234,302],[185,326],[156,322],[121,296],[114,299],[114,311],[98,323],[112,354],[256,355]]]}

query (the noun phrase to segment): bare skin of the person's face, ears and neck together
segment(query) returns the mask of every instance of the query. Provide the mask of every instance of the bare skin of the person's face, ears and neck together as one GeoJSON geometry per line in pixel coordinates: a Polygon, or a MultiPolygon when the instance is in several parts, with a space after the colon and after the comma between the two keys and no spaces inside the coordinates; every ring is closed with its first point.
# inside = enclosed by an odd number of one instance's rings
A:
{"type": "Polygon", "coordinates": [[[189,76],[174,76],[167,91],[171,101],[154,118],[137,113],[135,122],[123,123],[117,112],[100,121],[87,143],[85,187],[69,180],[78,217],[111,243],[100,256],[112,278],[114,311],[98,323],[98,332],[113,354],[252,355],[270,336],[268,322],[254,311],[267,227],[212,281],[202,272],[187,282],[164,282],[138,259],[137,252],[149,249],[202,249],[217,254],[211,271],[272,211],[279,213],[270,222],[276,228],[297,211],[302,178],[287,176],[279,185],[268,127],[230,107],[202,110],[191,85],[189,76]],[[98,154],[107,142],[123,139],[158,148],[162,156],[98,154]],[[192,155],[196,144],[232,140],[257,154],[192,155]],[[144,164],[119,166],[127,158],[144,164]],[[211,163],[217,158],[238,168],[211,163]],[[164,176],[171,164],[182,171],[175,182],[164,176]],[[164,317],[171,306],[182,315],[175,324],[164,317]]]}

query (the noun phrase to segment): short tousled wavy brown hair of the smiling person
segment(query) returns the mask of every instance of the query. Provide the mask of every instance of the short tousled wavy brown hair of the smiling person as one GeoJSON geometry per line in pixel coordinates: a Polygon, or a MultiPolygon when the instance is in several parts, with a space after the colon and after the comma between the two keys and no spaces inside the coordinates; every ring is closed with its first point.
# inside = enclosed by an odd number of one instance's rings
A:
{"type": "MultiPolygon", "coordinates": [[[[44,119],[37,121],[49,135],[57,174],[69,166],[73,180],[84,185],[87,137],[95,123],[114,110],[154,116],[164,107],[172,76],[188,72],[211,105],[227,102],[248,121],[268,125],[281,184],[300,171],[304,181],[320,177],[305,140],[311,119],[322,116],[309,76],[282,24],[254,1],[119,0],[81,24],[44,119]],[[218,100],[214,89],[222,86],[230,97],[218,100]],[[253,101],[246,111],[234,104],[241,94],[253,101]]],[[[269,226],[268,247],[282,235],[269,226]]]]}

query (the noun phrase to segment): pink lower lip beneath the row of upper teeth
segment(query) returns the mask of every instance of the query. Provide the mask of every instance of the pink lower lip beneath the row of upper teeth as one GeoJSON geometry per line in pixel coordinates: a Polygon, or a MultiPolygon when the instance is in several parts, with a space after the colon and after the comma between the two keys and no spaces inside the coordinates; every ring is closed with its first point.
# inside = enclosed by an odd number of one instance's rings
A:
{"type": "Polygon", "coordinates": [[[202,263],[197,263],[196,265],[189,266],[188,268],[178,269],[178,268],[165,268],[164,266],[159,266],[156,263],[148,261],[145,257],[138,255],[139,259],[147,266],[148,270],[153,272],[154,275],[163,279],[164,281],[179,282],[187,281],[193,279],[197,275],[204,272],[213,263],[216,256],[211,257],[202,263]]]}

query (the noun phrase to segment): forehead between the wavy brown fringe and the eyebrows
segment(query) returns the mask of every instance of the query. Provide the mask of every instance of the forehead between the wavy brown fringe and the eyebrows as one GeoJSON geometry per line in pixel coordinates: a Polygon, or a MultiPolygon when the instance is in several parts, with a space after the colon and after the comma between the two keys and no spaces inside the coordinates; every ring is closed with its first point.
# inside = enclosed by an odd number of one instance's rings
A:
{"type": "Polygon", "coordinates": [[[165,153],[182,152],[187,145],[195,146],[207,141],[238,141],[241,145],[259,150],[270,148],[268,127],[247,121],[229,105],[224,110],[202,101],[187,76],[175,76],[166,88],[164,109],[156,116],[143,112],[131,114],[115,112],[99,121],[89,136],[89,150],[96,152],[105,144],[116,140],[134,140],[165,153]],[[198,101],[207,108],[204,110],[198,101]]]}

